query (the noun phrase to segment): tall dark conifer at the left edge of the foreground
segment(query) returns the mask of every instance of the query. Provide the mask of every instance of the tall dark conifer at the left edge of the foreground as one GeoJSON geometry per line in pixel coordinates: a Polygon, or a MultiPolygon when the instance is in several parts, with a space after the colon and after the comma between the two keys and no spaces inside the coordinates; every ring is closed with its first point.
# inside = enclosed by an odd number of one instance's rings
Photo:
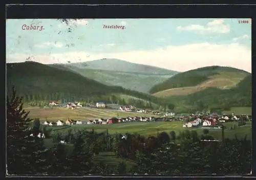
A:
{"type": "Polygon", "coordinates": [[[16,97],[13,87],[12,98],[7,97],[7,174],[43,174],[47,170],[43,156],[42,140],[30,136],[31,119],[23,110],[22,98],[16,97]],[[44,166],[44,167],[42,167],[44,166]]]}

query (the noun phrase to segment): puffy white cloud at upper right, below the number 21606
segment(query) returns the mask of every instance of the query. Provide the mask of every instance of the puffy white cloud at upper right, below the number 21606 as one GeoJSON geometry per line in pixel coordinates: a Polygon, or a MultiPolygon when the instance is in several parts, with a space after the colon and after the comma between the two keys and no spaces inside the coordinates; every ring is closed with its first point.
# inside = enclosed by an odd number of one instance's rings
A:
{"type": "Polygon", "coordinates": [[[178,26],[176,28],[178,31],[194,31],[200,34],[205,33],[229,33],[230,28],[225,25],[225,21],[222,19],[215,19],[207,23],[206,26],[202,25],[188,25],[188,26],[178,26]]]}

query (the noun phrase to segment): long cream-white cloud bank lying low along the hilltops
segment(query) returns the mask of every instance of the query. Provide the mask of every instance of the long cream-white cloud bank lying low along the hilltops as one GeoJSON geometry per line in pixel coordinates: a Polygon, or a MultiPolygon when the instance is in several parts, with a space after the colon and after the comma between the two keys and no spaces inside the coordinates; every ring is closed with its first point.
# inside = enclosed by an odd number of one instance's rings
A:
{"type": "MultiPolygon", "coordinates": [[[[24,61],[31,54],[12,54],[7,62],[24,61]]],[[[67,63],[116,58],[130,62],[158,66],[160,68],[188,71],[209,65],[232,66],[251,72],[251,49],[239,43],[194,43],[183,46],[167,46],[153,51],[130,51],[120,53],[91,53],[84,51],[51,53],[35,56],[40,63],[67,63]],[[90,54],[90,57],[88,57],[90,54]]]]}

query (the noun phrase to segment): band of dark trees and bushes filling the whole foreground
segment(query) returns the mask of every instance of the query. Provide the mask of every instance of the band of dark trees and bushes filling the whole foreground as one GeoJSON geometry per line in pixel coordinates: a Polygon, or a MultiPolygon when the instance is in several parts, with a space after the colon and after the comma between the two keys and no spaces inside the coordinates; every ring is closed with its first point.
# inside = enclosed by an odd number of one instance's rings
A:
{"type": "Polygon", "coordinates": [[[7,175],[247,174],[251,171],[251,141],[246,136],[204,142],[201,140],[214,139],[207,130],[201,136],[197,131],[178,135],[171,131],[147,138],[140,134],[111,136],[108,132],[79,130],[49,137],[43,129],[46,139],[53,138],[54,142],[46,148],[44,140],[36,137],[40,132],[39,121],[34,120],[33,128],[29,128],[32,120],[27,118],[29,113],[23,110],[22,99],[16,97],[15,91],[6,105],[7,175]],[[35,136],[31,137],[31,133],[35,136]],[[67,144],[59,143],[63,140],[67,144]],[[99,161],[102,155],[106,162],[99,161]],[[112,166],[107,157],[121,161],[112,166]]]}

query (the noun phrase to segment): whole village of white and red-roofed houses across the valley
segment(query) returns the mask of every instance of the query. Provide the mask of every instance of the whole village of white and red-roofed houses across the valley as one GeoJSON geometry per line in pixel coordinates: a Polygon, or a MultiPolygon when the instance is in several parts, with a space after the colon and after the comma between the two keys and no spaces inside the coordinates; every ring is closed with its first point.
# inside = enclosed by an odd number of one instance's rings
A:
{"type": "MultiPolygon", "coordinates": [[[[58,103],[55,101],[50,101],[50,106],[59,106],[58,103]]],[[[68,102],[67,104],[62,105],[62,107],[66,107],[68,109],[76,109],[81,108],[82,105],[79,102],[68,102]]],[[[89,104],[89,108],[110,108],[108,104],[103,102],[97,102],[95,104],[89,104]]],[[[132,105],[122,105],[119,108],[113,108],[119,111],[127,111],[127,112],[136,112],[141,113],[142,116],[135,116],[135,117],[112,117],[109,119],[87,119],[87,120],[73,120],[67,119],[66,121],[58,120],[58,121],[48,121],[42,123],[42,125],[48,126],[65,126],[65,125],[106,125],[106,124],[114,124],[114,123],[127,123],[127,122],[161,122],[161,121],[183,121],[183,128],[221,128],[220,124],[225,122],[232,122],[232,121],[251,121],[251,115],[218,115],[217,113],[195,113],[188,116],[176,116],[173,112],[160,112],[158,110],[148,110],[148,109],[137,109],[135,106],[132,105]],[[150,114],[152,117],[145,117],[143,115],[150,114]]]]}

